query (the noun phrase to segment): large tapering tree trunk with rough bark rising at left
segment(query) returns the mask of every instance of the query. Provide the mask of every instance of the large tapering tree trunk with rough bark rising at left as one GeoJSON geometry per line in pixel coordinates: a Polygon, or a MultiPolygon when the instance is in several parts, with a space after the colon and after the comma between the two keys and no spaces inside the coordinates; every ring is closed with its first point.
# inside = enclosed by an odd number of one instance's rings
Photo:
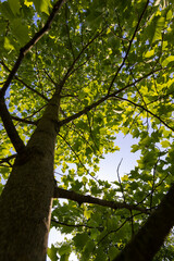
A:
{"type": "Polygon", "coordinates": [[[59,96],[54,95],[0,198],[0,261],[46,260],[54,190],[59,96]]]}

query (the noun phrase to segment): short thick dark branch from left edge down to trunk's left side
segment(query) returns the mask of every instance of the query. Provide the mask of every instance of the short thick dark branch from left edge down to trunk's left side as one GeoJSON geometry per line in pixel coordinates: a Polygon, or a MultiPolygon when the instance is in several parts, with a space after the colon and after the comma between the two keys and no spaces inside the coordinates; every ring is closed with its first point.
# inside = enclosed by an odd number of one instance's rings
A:
{"type": "Polygon", "coordinates": [[[17,153],[22,152],[25,149],[25,145],[18,136],[3,98],[0,99],[0,116],[15,151],[17,153]]]}

